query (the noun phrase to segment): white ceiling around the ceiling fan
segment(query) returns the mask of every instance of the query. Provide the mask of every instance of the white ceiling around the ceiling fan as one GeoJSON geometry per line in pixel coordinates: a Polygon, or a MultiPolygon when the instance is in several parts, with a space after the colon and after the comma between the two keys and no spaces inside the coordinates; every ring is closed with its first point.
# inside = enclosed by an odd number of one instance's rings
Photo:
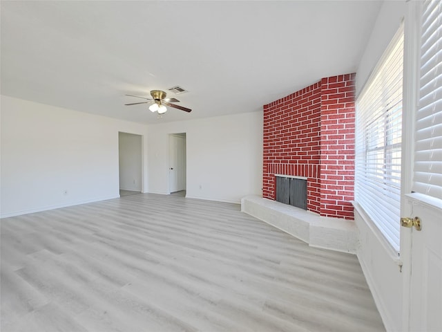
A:
{"type": "Polygon", "coordinates": [[[1,93],[135,122],[259,111],[356,71],[380,1],[1,1],[1,93]],[[168,93],[158,119],[125,94],[168,93]]]}

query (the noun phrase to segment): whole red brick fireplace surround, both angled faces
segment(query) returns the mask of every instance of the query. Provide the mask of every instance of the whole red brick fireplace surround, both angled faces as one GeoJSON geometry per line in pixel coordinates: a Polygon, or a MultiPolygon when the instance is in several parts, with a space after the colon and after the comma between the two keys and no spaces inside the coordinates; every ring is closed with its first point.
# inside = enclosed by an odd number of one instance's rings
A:
{"type": "Polygon", "coordinates": [[[263,191],[276,175],[307,178],[307,210],[353,219],[354,73],[326,77],[264,105],[263,191]]]}

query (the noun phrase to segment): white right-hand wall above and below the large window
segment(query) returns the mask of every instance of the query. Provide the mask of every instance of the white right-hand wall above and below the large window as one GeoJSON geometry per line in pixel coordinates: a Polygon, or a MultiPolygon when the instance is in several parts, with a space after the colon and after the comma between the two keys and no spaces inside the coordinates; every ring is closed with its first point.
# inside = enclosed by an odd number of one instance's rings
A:
{"type": "MultiPolygon", "coordinates": [[[[384,1],[356,72],[357,95],[398,30],[405,10],[405,1],[384,1]]],[[[398,257],[381,241],[367,216],[355,211],[355,222],[360,238],[356,253],[385,328],[402,331],[403,274],[399,272],[398,257]]]]}

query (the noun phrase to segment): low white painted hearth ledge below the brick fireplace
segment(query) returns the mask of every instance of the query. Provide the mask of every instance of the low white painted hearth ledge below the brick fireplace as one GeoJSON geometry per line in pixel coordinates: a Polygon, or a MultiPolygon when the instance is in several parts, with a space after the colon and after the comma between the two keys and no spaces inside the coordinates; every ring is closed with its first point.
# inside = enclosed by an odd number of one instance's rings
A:
{"type": "Polygon", "coordinates": [[[358,232],[352,220],[319,216],[256,195],[241,199],[241,211],[309,243],[309,246],[356,254],[358,232]]]}

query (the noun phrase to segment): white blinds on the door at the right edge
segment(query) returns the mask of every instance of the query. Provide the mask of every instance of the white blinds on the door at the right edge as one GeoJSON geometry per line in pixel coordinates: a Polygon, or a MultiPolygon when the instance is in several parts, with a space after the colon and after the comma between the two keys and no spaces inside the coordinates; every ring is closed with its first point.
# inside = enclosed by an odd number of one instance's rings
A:
{"type": "Polygon", "coordinates": [[[442,199],[442,4],[423,3],[413,191],[442,199]]]}

